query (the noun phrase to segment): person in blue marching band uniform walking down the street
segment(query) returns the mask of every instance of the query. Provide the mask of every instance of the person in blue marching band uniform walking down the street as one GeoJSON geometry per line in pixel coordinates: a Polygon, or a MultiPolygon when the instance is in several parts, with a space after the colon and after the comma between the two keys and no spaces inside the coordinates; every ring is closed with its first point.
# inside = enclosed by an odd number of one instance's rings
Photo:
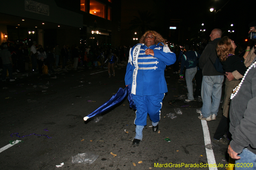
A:
{"type": "Polygon", "coordinates": [[[139,145],[142,140],[147,115],[152,122],[153,131],[158,130],[162,102],[167,92],[164,70],[166,65],[176,61],[176,55],[170,51],[165,41],[156,31],[147,31],[140,38],[140,44],[130,49],[125,85],[131,85],[132,99],[137,107],[133,145],[139,145]]]}

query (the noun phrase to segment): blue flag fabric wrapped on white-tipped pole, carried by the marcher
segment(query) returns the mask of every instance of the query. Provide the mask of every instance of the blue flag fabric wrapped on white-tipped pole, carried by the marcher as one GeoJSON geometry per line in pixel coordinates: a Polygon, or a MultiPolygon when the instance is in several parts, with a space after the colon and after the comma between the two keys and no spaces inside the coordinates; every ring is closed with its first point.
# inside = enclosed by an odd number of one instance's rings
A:
{"type": "Polygon", "coordinates": [[[136,106],[132,100],[132,94],[131,94],[131,85],[128,85],[124,89],[119,88],[118,92],[111,97],[107,102],[105,102],[103,105],[101,105],[99,108],[94,110],[91,114],[84,117],[84,120],[98,115],[102,112],[105,112],[106,110],[110,109],[111,107],[115,106],[116,104],[120,103],[128,94],[128,101],[130,102],[130,107],[133,107],[133,109],[136,109],[136,106]]]}

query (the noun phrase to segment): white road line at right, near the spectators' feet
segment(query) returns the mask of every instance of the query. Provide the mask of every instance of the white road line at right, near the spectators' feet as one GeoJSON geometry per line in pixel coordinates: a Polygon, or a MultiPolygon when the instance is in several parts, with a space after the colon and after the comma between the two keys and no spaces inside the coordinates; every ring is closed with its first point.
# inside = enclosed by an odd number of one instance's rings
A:
{"type": "MultiPolygon", "coordinates": [[[[202,123],[203,131],[204,131],[204,145],[211,144],[211,138],[210,138],[210,133],[209,133],[207,122],[206,122],[206,120],[201,120],[201,123],[202,123]]],[[[205,148],[205,150],[206,150],[206,157],[207,157],[208,164],[216,165],[213,150],[208,149],[208,148],[205,148]]],[[[209,170],[218,170],[218,168],[217,167],[209,167],[209,170]]]]}

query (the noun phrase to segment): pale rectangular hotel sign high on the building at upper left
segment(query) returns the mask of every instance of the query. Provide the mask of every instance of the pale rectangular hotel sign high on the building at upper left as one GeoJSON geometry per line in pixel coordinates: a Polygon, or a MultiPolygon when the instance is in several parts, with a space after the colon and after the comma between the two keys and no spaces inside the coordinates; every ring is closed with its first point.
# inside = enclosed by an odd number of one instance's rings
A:
{"type": "Polygon", "coordinates": [[[41,4],[36,1],[25,0],[25,11],[49,16],[49,5],[41,4]]]}

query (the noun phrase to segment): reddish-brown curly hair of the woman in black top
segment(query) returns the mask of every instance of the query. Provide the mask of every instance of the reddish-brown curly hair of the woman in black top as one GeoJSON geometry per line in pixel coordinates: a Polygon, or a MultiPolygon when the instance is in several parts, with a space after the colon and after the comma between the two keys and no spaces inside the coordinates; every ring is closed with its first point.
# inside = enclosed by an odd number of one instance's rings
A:
{"type": "Polygon", "coordinates": [[[231,40],[228,36],[223,37],[216,46],[217,54],[220,58],[220,61],[226,61],[227,55],[229,53],[235,53],[235,49],[231,45],[231,40]]]}

